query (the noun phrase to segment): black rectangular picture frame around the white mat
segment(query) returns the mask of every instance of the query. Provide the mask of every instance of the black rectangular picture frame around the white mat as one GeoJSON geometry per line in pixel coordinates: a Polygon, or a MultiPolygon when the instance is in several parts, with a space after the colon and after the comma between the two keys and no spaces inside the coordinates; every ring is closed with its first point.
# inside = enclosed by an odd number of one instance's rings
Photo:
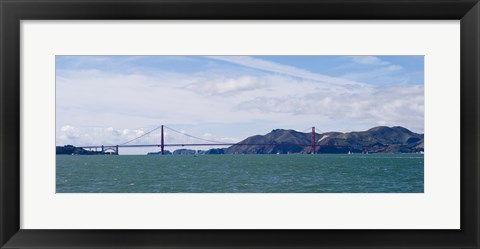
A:
{"type": "Polygon", "coordinates": [[[0,17],[1,248],[479,248],[478,0],[0,0],[0,17]],[[460,20],[461,229],[20,229],[20,21],[77,19],[460,20]]]}

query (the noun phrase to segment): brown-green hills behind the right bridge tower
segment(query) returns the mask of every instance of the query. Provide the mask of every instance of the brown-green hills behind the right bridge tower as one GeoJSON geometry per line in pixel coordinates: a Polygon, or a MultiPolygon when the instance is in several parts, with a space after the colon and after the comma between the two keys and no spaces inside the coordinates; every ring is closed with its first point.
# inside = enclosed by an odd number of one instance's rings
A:
{"type": "MultiPolygon", "coordinates": [[[[423,151],[423,134],[406,128],[374,127],[361,132],[315,134],[316,153],[416,153],[423,151]]],[[[225,149],[226,154],[311,153],[311,133],[276,129],[249,137],[225,149]]]]}

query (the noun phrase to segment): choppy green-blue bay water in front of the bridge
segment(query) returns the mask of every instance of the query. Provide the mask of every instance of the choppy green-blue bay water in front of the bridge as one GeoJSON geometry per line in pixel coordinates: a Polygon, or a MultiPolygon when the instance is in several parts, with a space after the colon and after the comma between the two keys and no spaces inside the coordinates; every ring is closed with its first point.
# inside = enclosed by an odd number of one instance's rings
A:
{"type": "Polygon", "coordinates": [[[57,193],[422,193],[423,155],[57,155],[57,193]]]}

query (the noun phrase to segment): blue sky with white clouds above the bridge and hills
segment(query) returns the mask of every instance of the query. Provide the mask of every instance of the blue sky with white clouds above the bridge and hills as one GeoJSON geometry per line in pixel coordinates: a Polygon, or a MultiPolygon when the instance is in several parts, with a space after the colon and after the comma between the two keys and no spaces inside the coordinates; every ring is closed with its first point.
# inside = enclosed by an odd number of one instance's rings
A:
{"type": "Polygon", "coordinates": [[[311,126],[424,132],[423,56],[57,56],[56,93],[57,145],[161,124],[225,142],[311,126]]]}

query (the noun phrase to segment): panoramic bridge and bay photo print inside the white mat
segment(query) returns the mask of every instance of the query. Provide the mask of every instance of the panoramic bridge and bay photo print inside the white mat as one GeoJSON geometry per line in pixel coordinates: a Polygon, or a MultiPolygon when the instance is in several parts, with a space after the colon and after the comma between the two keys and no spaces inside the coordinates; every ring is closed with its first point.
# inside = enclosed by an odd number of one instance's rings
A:
{"type": "Polygon", "coordinates": [[[424,193],[423,67],[56,55],[55,192],[424,193]]]}

